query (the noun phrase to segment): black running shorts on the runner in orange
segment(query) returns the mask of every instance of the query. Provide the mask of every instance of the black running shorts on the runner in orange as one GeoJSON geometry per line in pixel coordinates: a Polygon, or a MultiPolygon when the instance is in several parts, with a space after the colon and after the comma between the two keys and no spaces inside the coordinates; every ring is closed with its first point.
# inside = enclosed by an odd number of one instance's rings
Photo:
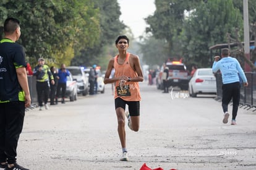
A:
{"type": "Polygon", "coordinates": [[[140,116],[140,101],[125,101],[121,98],[116,98],[114,100],[115,108],[126,109],[126,104],[128,105],[130,116],[140,116]]]}

